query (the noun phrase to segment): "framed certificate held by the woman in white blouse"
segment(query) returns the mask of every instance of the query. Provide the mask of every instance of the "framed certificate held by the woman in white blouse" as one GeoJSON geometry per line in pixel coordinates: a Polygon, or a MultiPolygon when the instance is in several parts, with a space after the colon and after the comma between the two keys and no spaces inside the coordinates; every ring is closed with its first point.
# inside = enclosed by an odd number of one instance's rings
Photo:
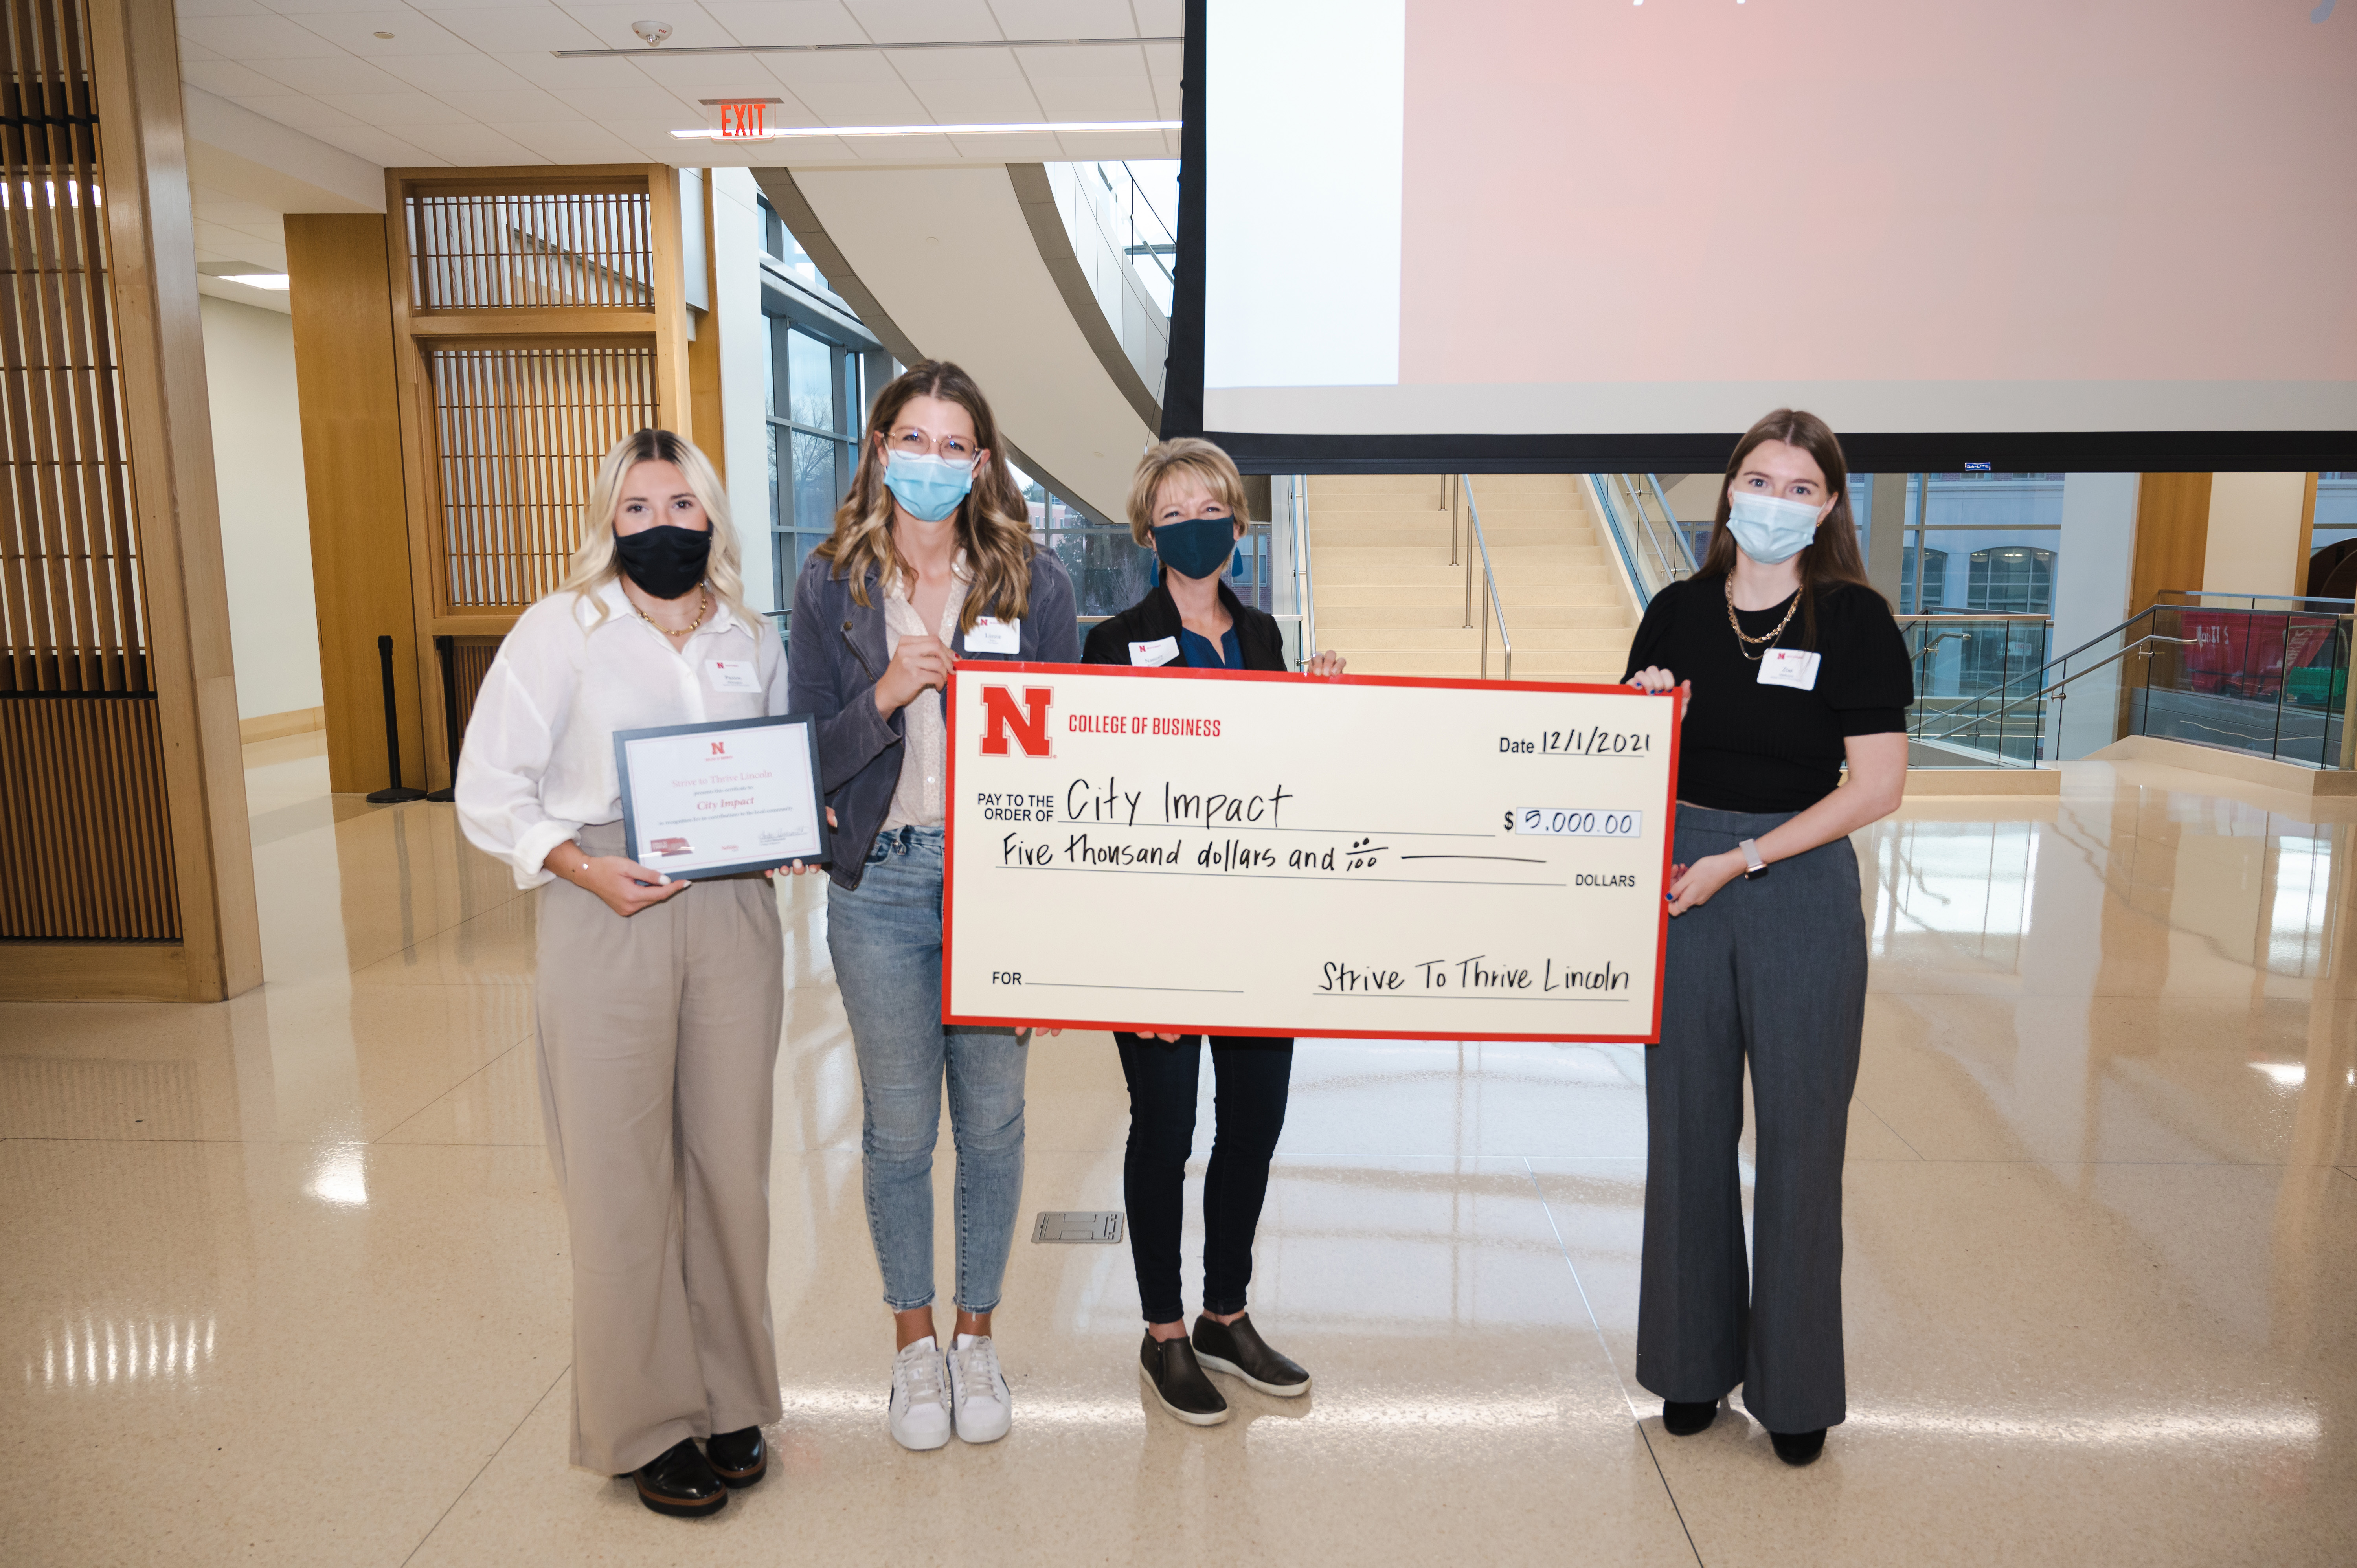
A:
{"type": "Polygon", "coordinates": [[[823,865],[832,854],[811,714],[618,729],[613,769],[625,854],[667,877],[823,865]]]}

